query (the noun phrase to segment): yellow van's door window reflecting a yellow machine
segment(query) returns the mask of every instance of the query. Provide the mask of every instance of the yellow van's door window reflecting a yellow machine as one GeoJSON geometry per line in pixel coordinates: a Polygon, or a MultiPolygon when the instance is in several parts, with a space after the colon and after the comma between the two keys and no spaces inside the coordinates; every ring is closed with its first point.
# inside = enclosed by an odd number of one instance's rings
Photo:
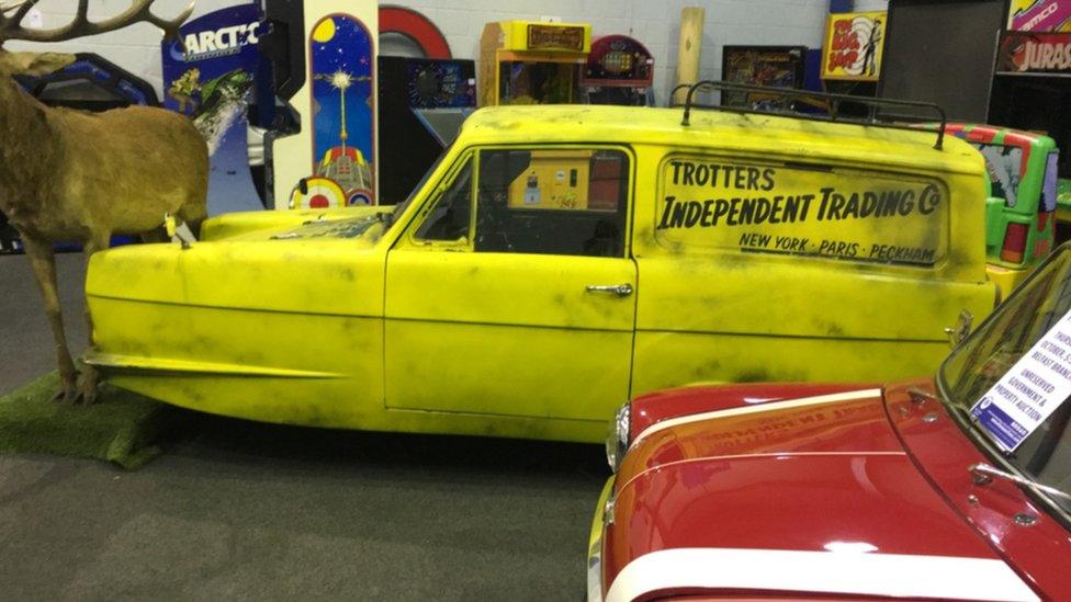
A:
{"type": "Polygon", "coordinates": [[[621,257],[628,197],[621,150],[481,151],[475,250],[621,257]]]}

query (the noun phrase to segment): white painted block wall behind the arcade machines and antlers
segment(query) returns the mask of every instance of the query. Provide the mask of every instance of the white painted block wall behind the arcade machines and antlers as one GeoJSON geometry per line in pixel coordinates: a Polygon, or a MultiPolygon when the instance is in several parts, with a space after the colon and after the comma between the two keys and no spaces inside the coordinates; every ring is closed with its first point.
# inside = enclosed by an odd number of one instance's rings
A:
{"type": "MultiPolygon", "coordinates": [[[[2,2],[3,0],[0,0],[2,2]]],[[[157,0],[155,13],[173,15],[188,0],[157,0]]],[[[357,0],[339,0],[339,10],[357,0]]],[[[91,18],[115,14],[129,0],[92,0],[91,18]]],[[[198,0],[194,18],[240,0],[198,0]]],[[[477,58],[480,34],[488,21],[536,20],[559,16],[565,21],[591,23],[595,35],[627,34],[642,42],[654,55],[655,93],[665,102],[675,81],[680,10],[706,9],[700,77],[721,76],[721,46],[729,44],[803,45],[822,44],[826,0],[401,0],[435,22],[450,42],[456,58],[477,58]]],[[[861,0],[858,4],[886,4],[861,0]]],[[[70,20],[74,0],[42,0],[43,26],[54,27],[70,20]]],[[[877,10],[880,10],[877,9],[877,10]]],[[[10,42],[8,49],[93,52],[145,78],[160,91],[160,34],[149,24],[93,37],[57,44],[10,42]]]]}

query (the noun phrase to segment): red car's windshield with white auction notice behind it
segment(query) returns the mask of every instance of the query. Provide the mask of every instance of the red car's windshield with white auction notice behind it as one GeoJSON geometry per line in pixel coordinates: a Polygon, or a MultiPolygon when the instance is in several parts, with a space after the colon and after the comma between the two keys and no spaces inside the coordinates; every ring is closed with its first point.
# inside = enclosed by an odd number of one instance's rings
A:
{"type": "MultiPolygon", "coordinates": [[[[946,402],[970,417],[1010,466],[1071,491],[1071,247],[1053,253],[945,361],[946,402]],[[1066,355],[1064,355],[1066,353],[1066,355]]],[[[1071,501],[1049,496],[1071,512],[1071,501]]]]}

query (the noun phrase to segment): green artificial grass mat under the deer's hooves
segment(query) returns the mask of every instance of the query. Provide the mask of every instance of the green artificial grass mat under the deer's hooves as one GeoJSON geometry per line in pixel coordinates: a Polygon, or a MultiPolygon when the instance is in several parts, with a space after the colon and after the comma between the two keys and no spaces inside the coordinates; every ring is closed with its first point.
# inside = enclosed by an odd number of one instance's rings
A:
{"type": "Polygon", "coordinates": [[[58,388],[53,372],[0,396],[0,454],[98,458],[133,470],[161,453],[182,413],[108,385],[95,404],[72,406],[54,400],[58,388]]]}

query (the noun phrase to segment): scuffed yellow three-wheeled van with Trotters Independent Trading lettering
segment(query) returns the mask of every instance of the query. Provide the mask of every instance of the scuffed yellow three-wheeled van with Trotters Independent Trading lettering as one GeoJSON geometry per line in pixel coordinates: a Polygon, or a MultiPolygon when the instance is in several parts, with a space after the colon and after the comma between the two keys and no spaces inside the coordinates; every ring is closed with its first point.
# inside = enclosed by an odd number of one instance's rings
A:
{"type": "MultiPolygon", "coordinates": [[[[935,149],[928,132],[714,111],[680,120],[668,109],[485,109],[397,211],[233,214],[185,250],[97,253],[84,360],[116,386],[225,416],[595,442],[615,408],[661,387],[931,373],[948,349],[943,327],[992,309],[972,206],[984,163],[966,143],[935,149]],[[586,161],[619,149],[619,252],[484,252],[477,212],[467,236],[421,239],[441,198],[482,181],[487,149],[540,150],[549,159],[534,177],[557,186],[545,190],[568,186],[579,164],[575,203],[526,214],[565,218],[602,215],[587,206],[599,170],[586,161]],[[732,172],[718,182],[743,192],[708,182],[708,195],[696,174],[715,164],[732,172]],[[855,205],[849,189],[861,191],[855,205]],[[834,194],[844,198],[831,217],[834,194]],[[875,200],[891,213],[858,217],[875,200]],[[730,208],[715,225],[719,207],[730,208]]],[[[514,200],[530,175],[504,184],[505,207],[528,211],[514,200]]]]}

